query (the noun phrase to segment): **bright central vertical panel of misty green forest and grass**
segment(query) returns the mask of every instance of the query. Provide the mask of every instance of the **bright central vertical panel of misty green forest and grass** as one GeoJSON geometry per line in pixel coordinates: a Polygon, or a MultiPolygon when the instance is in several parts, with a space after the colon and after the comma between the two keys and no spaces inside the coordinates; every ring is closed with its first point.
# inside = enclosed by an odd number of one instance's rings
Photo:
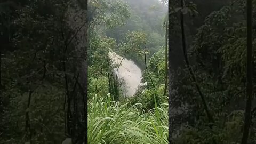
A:
{"type": "Polygon", "coordinates": [[[168,143],[167,5],[101,0],[88,7],[88,142],[168,143]],[[136,85],[139,73],[138,89],[127,94],[124,85],[136,85]]]}

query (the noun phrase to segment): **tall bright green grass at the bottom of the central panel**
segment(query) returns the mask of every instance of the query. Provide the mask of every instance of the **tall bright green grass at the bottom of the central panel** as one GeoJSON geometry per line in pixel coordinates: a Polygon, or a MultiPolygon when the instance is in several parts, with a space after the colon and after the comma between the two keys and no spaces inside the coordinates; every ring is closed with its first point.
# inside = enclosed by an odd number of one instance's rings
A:
{"type": "Polygon", "coordinates": [[[88,143],[168,143],[167,104],[147,113],[137,105],[111,101],[110,94],[95,95],[88,106],[88,143]]]}

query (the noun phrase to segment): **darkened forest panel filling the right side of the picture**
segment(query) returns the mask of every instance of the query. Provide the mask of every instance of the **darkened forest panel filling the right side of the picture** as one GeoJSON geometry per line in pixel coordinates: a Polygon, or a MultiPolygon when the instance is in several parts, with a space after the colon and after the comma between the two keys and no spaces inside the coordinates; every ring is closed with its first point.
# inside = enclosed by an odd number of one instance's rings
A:
{"type": "Polygon", "coordinates": [[[171,143],[256,143],[255,4],[169,3],[171,143]]]}

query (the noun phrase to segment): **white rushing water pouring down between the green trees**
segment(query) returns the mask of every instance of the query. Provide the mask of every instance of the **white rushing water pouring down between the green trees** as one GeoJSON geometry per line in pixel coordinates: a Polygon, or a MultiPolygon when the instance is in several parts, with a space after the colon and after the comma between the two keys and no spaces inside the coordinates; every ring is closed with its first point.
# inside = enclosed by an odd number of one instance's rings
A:
{"type": "MultiPolygon", "coordinates": [[[[126,92],[124,94],[127,97],[133,96],[138,86],[141,84],[140,80],[142,73],[140,68],[132,60],[128,60],[126,58],[123,59],[123,57],[117,55],[113,51],[109,52],[109,57],[112,59],[113,64],[117,64],[117,66],[119,66],[120,62],[122,61],[121,66],[118,69],[117,76],[122,78],[126,84],[124,87],[126,92]]],[[[116,73],[117,68],[114,70],[116,73]]]]}

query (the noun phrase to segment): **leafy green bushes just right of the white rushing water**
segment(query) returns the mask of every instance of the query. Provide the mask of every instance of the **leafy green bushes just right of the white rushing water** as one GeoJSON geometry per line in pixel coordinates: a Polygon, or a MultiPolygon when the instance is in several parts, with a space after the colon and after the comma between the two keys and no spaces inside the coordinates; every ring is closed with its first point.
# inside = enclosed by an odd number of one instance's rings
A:
{"type": "Polygon", "coordinates": [[[140,102],[144,107],[138,107],[143,110],[148,110],[154,108],[154,97],[156,97],[157,105],[167,101],[166,97],[163,97],[164,91],[164,78],[165,78],[165,58],[164,58],[164,49],[153,54],[153,57],[149,59],[148,69],[155,89],[151,84],[151,80],[147,71],[142,73],[142,85],[140,89],[137,90],[134,97],[130,98],[131,103],[140,102]]]}

